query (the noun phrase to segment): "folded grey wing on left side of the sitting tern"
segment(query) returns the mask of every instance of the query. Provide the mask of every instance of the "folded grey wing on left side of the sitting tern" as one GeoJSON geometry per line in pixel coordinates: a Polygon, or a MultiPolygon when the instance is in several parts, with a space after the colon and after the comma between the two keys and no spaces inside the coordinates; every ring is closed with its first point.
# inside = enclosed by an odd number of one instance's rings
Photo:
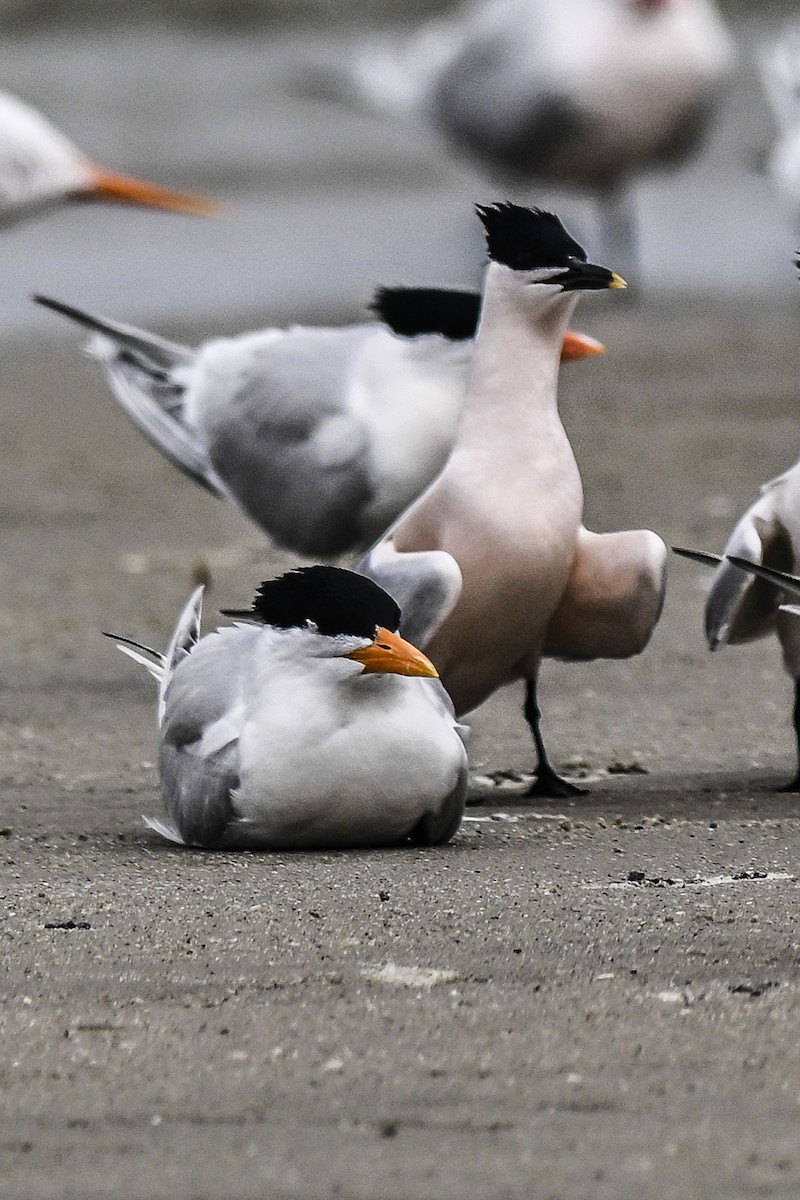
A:
{"type": "Polygon", "coordinates": [[[169,821],[187,845],[230,840],[243,672],[258,636],[242,625],[210,634],[166,688],[158,763],[169,821]]]}

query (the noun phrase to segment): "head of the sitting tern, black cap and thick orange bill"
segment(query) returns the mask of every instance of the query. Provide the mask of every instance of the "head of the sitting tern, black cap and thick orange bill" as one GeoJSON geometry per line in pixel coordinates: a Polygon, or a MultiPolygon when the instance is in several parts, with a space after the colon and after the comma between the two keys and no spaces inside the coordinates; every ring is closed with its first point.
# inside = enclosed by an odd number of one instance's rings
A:
{"type": "Polygon", "coordinates": [[[389,593],[341,566],[297,566],[261,583],[252,608],[222,612],[302,632],[307,654],[349,659],[365,674],[438,676],[431,660],[398,635],[401,611],[389,593]]]}

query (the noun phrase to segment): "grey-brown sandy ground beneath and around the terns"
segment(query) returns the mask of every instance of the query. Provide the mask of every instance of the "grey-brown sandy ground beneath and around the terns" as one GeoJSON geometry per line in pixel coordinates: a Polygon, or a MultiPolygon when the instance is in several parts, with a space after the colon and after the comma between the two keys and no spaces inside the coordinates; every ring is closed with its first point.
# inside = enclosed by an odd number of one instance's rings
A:
{"type": "MultiPolygon", "coordinates": [[[[796,454],[798,306],[618,301],[564,372],[589,523],[718,550],[796,454]]],[[[71,342],[6,344],[0,410],[0,1195],[798,1194],[789,686],[771,643],[706,653],[699,568],[640,659],[545,671],[585,799],[487,792],[440,850],[176,852],[100,630],[161,644],[198,571],[212,617],[287,560],[71,342]]],[[[519,701],[476,769],[530,767],[519,701]]]]}

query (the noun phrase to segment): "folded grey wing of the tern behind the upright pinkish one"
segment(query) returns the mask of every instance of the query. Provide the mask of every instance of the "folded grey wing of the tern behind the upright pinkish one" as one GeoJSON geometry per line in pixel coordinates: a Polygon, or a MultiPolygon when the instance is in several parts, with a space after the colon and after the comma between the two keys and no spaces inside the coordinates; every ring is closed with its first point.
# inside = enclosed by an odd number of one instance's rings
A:
{"type": "Polygon", "coordinates": [[[363,540],[369,443],[349,386],[378,330],[296,328],[201,353],[193,403],[212,466],[240,508],[289,550],[330,556],[363,540]]]}

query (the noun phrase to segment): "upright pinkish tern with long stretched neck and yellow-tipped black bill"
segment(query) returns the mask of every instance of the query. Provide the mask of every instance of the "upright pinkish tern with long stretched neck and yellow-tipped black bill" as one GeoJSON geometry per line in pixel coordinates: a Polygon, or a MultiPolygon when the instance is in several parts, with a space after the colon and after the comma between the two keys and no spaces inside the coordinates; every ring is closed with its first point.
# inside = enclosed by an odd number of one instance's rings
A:
{"type": "Polygon", "coordinates": [[[666,546],[583,526],[581,475],[558,414],[559,348],[582,289],[625,283],[587,262],[558,217],[479,208],[489,253],[470,383],[440,475],[359,564],[403,611],[458,714],[516,679],[539,755],[534,794],[578,791],[548,762],[543,658],[627,658],[646,644],[666,546]]]}

